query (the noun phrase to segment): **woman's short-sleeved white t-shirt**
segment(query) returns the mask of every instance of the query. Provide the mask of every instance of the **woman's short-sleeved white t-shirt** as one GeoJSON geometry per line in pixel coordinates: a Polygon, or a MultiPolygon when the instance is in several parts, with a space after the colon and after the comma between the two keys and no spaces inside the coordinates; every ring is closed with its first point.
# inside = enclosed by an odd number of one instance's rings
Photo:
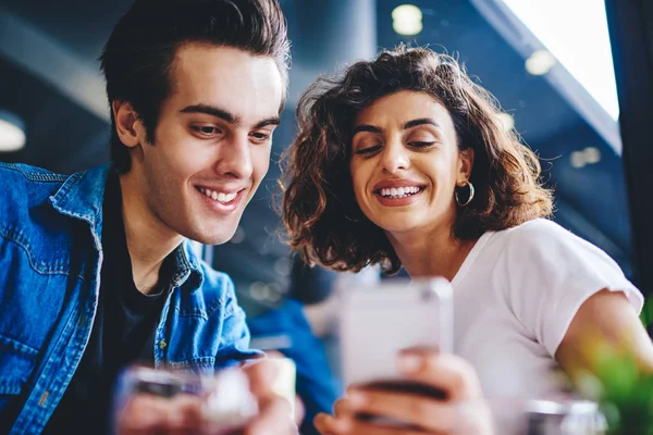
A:
{"type": "Polygon", "coordinates": [[[605,252],[544,219],[485,233],[452,285],[454,352],[476,368],[485,397],[555,394],[556,349],[599,290],[624,291],[638,313],[643,304],[605,252]]]}

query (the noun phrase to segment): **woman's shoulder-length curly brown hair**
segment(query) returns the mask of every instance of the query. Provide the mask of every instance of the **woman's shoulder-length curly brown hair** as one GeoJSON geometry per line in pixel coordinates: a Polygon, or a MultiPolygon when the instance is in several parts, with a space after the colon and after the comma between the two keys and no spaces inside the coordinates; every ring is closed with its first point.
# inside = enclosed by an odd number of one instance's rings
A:
{"type": "Polygon", "coordinates": [[[475,239],[552,213],[538,157],[514,130],[505,130],[495,98],[473,83],[449,55],[399,47],[321,77],[301,96],[298,136],[284,158],[282,214],[289,245],[309,263],[357,272],[380,263],[401,268],[383,229],[368,220],[354,196],[349,160],[357,114],[399,90],[428,92],[454,121],[460,150],[475,151],[470,182],[476,196],[457,207],[453,234],[475,239]]]}

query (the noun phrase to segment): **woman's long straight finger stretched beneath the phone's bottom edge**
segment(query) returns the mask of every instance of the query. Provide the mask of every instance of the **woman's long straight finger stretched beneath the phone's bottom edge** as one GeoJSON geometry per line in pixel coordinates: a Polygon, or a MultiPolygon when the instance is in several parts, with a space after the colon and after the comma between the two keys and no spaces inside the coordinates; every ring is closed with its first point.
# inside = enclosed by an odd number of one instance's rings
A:
{"type": "Polygon", "coordinates": [[[455,405],[443,400],[369,389],[350,389],[347,398],[348,407],[356,413],[382,415],[427,431],[451,432],[458,424],[455,405]]]}

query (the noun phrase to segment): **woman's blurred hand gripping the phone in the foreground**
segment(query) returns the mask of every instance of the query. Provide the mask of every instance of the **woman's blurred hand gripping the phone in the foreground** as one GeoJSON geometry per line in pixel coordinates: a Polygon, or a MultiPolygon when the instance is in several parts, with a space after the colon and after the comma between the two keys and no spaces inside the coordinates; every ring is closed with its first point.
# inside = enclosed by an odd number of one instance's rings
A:
{"type": "Polygon", "coordinates": [[[412,350],[397,358],[405,378],[428,385],[444,399],[391,390],[350,387],[334,407],[320,414],[321,434],[442,433],[491,435],[494,423],[471,365],[459,357],[412,350]],[[366,415],[367,418],[360,418],[366,415]]]}

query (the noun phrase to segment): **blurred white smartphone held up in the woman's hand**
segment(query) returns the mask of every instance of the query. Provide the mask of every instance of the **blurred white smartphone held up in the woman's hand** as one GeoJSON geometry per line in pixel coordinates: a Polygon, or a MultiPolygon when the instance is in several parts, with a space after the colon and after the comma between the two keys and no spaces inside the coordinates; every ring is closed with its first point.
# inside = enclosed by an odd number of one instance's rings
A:
{"type": "Polygon", "coordinates": [[[340,350],[345,385],[439,396],[408,385],[397,368],[403,349],[453,350],[453,289],[442,277],[389,279],[340,289],[340,350]]]}

